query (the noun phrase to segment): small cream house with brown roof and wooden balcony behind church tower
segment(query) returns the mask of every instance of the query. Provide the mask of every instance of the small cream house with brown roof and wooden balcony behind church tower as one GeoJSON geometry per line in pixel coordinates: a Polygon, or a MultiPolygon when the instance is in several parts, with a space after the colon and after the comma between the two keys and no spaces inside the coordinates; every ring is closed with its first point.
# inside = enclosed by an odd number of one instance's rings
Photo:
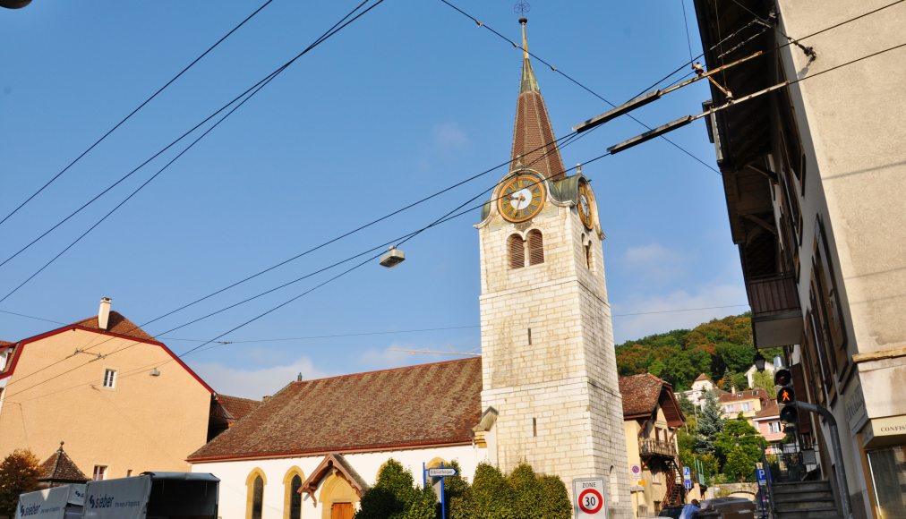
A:
{"type": "Polygon", "coordinates": [[[620,378],[632,516],[654,517],[685,500],[677,429],[686,423],[670,384],[644,373],[620,378]],[[638,467],[638,472],[635,471],[638,467]]]}

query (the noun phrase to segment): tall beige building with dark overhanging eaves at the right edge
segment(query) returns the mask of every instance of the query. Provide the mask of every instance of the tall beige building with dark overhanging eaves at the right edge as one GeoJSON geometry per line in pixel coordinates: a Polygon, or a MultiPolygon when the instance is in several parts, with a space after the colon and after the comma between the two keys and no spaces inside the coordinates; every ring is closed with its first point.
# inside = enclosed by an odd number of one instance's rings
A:
{"type": "Polygon", "coordinates": [[[708,118],[756,346],[834,416],[841,456],[807,420],[834,494],[906,517],[906,4],[694,4],[708,70],[764,53],[720,72],[737,101],[708,118]]]}

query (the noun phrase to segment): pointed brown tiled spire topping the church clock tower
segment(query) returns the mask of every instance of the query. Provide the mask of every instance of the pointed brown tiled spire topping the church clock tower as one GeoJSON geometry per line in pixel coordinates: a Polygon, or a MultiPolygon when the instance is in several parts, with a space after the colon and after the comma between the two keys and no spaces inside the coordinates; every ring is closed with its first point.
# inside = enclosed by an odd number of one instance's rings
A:
{"type": "Polygon", "coordinates": [[[513,130],[513,157],[510,169],[520,167],[535,169],[545,178],[559,180],[565,178],[564,161],[560,149],[554,143],[554,129],[547,115],[545,99],[529,61],[528,40],[525,37],[525,23],[522,24],[522,82],[519,86],[519,98],[516,101],[516,124],[513,130]]]}

